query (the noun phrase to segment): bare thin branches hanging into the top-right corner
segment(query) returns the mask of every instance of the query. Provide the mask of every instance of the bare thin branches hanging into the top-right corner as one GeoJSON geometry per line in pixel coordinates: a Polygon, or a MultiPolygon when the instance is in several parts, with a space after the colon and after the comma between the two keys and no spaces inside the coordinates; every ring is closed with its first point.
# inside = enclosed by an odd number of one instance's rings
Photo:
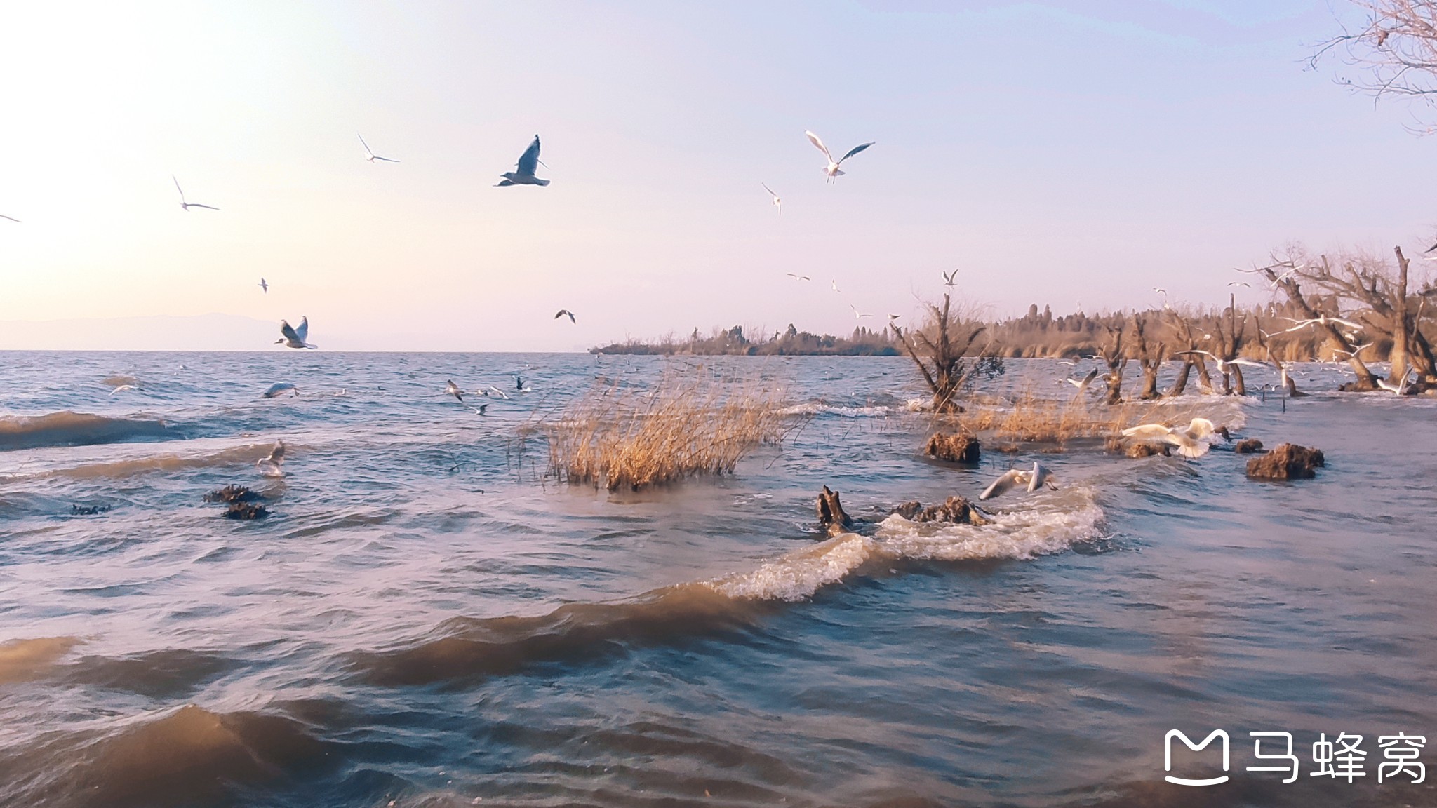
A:
{"type": "Polygon", "coordinates": [[[1437,0],[1351,0],[1364,10],[1362,24],[1318,46],[1309,59],[1316,69],[1325,58],[1352,68],[1338,82],[1375,99],[1405,96],[1428,108],[1414,112],[1413,129],[1427,134],[1437,109],[1437,0]]]}

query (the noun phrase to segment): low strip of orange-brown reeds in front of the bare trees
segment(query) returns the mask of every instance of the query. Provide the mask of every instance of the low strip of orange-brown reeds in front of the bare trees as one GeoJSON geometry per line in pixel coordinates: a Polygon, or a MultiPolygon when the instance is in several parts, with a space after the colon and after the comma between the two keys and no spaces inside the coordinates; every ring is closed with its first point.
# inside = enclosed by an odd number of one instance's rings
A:
{"type": "Polygon", "coordinates": [[[1221,403],[1201,398],[1134,401],[1117,405],[1089,404],[1081,398],[1040,398],[1025,391],[1013,400],[984,397],[969,403],[957,417],[961,428],[1016,443],[1066,443],[1104,439],[1137,424],[1183,424],[1194,417],[1223,423],[1221,403]]]}

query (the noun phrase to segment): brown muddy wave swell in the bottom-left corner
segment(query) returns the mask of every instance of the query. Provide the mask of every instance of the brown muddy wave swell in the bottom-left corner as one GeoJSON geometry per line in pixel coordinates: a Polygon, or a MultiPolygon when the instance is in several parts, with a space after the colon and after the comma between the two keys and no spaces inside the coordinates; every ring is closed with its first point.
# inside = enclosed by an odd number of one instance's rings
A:
{"type": "Polygon", "coordinates": [[[187,704],[121,729],[78,730],[0,758],[0,804],[180,807],[295,776],[326,756],[299,722],[187,704]]]}

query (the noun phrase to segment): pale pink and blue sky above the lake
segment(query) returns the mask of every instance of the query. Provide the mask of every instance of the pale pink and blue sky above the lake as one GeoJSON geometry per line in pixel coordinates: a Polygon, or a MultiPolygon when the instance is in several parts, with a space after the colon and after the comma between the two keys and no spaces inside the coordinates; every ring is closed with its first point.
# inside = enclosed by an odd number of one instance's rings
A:
{"type": "Polygon", "coordinates": [[[1306,65],[1342,0],[4,16],[0,348],[282,349],[260,325],[302,315],[325,349],[848,334],[954,269],[992,316],[1216,305],[1285,243],[1420,252],[1437,224],[1437,138],[1306,65]],[[877,145],[828,184],[805,129],[877,145]],[[493,187],[535,134],[552,184],[493,187]]]}

